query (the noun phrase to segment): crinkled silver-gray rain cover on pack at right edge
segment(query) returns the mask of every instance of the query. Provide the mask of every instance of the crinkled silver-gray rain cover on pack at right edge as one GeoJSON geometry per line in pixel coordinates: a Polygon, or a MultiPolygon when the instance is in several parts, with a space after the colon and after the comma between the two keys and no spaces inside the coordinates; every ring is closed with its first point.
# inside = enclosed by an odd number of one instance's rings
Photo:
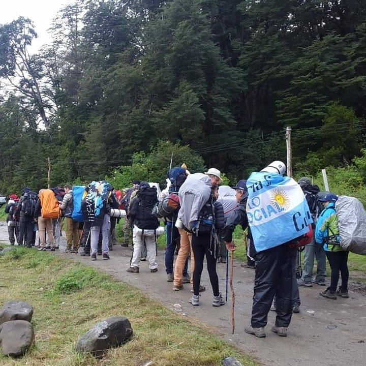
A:
{"type": "Polygon", "coordinates": [[[354,197],[340,196],[335,202],[341,247],[352,253],[366,255],[366,212],[354,197]]]}

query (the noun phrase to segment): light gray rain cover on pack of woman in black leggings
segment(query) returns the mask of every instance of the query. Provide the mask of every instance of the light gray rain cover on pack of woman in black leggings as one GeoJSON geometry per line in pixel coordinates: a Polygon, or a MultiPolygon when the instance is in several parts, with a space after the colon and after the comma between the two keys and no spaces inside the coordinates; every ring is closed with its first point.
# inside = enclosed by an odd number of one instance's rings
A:
{"type": "Polygon", "coordinates": [[[191,230],[211,194],[211,179],[203,173],[190,174],[179,189],[178,219],[191,230]]]}

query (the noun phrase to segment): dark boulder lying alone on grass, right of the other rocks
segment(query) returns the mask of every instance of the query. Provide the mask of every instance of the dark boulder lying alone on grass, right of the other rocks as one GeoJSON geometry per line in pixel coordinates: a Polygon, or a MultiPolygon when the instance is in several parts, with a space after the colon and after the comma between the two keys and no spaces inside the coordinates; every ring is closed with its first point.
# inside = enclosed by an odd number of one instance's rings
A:
{"type": "Polygon", "coordinates": [[[96,324],[78,341],[76,350],[90,352],[96,357],[112,347],[117,347],[132,337],[131,323],[124,317],[112,317],[96,324]]]}

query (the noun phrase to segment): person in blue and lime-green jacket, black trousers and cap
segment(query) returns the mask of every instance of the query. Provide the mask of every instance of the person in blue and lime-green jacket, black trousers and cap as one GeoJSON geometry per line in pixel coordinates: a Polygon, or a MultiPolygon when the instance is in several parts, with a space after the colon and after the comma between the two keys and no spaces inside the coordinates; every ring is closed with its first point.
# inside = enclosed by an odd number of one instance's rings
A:
{"type": "Polygon", "coordinates": [[[330,286],[319,293],[322,297],[337,299],[337,296],[348,298],[348,251],[344,251],[340,246],[340,235],[338,228],[338,216],[335,211],[335,202],[338,196],[329,193],[319,201],[323,202],[324,209],[321,212],[315,229],[315,240],[318,245],[323,245],[328,259],[331,276],[330,286]],[[342,284],[337,290],[339,275],[341,272],[342,284]]]}

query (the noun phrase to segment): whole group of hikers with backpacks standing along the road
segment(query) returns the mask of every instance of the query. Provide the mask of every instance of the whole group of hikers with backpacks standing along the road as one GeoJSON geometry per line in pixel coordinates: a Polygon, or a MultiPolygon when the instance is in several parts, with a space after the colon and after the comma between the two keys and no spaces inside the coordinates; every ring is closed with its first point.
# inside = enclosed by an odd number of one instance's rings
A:
{"type": "Polygon", "coordinates": [[[277,317],[271,330],[285,337],[292,313],[299,312],[298,286],[326,286],[326,258],[330,285],[320,296],[348,298],[349,253],[340,245],[338,196],[320,192],[307,177],[296,182],[285,172],[285,164],[275,161],[230,188],[221,186],[220,170],[191,174],[183,164],[169,169],[167,186],[161,192],[159,185],[139,180],[123,190],[116,190],[108,181],[42,189],[38,194],[26,187],[19,198],[12,194],[6,206],[9,240],[11,245],[16,239],[20,246],[54,251],[65,224],[63,253],[75,253],[81,245],[80,255],[91,260],[102,255],[108,260],[116,244],[116,223],[124,218],[121,246],[132,250],[127,272],[139,273],[141,261],[147,261],[154,273],[158,271],[157,236],[164,223],[165,270],[172,289],[179,291],[190,284],[189,302],[199,306],[200,292],[205,291],[201,274],[206,258],[212,306],[220,307],[225,300],[216,265],[226,263],[228,253],[235,251],[233,232],[240,225],[247,250],[247,262],[242,266],[255,269],[252,318],[245,331],[265,337],[267,315],[273,310],[277,317]],[[35,242],[37,229],[39,243],[35,242]],[[304,255],[302,274],[298,270],[300,251],[304,255]]]}

